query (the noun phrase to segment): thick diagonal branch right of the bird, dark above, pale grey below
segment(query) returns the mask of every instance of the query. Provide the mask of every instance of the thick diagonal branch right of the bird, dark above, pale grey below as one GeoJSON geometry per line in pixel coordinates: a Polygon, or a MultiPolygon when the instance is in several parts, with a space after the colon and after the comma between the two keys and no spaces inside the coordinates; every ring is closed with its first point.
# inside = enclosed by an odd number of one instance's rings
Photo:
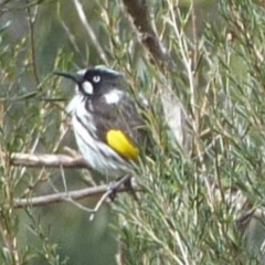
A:
{"type": "MultiPolygon", "coordinates": [[[[148,1],[123,0],[123,2],[134,21],[135,28],[141,34],[142,44],[148,49],[160,71],[163,73],[165,66],[169,65],[172,68],[176,64],[170,56],[170,52],[163,46],[150,22],[148,1]]],[[[187,112],[169,84],[160,85],[160,96],[166,121],[180,147],[184,152],[188,152],[190,136],[187,132],[187,125],[190,124],[190,120],[187,112]]]]}

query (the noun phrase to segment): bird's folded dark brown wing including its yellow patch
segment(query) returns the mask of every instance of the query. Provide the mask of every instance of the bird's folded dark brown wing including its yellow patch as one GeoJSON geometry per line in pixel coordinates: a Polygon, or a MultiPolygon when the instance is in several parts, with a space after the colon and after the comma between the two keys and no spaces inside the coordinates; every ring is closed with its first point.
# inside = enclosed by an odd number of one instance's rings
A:
{"type": "Polygon", "coordinates": [[[138,158],[146,137],[145,123],[130,97],[125,95],[117,104],[95,102],[93,117],[100,140],[126,159],[138,158]]]}

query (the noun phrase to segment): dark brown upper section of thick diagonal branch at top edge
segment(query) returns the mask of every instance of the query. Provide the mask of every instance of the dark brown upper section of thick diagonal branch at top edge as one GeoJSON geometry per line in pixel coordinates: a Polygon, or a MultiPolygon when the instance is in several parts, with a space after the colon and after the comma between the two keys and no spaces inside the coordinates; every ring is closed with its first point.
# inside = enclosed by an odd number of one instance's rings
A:
{"type": "Polygon", "coordinates": [[[141,42],[150,52],[155,62],[162,67],[170,59],[169,52],[157,36],[150,23],[148,2],[146,0],[123,0],[137,31],[141,33],[141,42]]]}

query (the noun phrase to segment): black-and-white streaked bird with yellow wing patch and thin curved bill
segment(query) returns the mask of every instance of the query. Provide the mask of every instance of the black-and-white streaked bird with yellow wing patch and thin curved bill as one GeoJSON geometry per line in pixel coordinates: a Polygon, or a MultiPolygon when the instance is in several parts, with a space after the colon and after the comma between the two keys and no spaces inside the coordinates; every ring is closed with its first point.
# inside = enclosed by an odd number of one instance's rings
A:
{"type": "Polygon", "coordinates": [[[105,65],[54,74],[75,83],[66,112],[85,161],[110,179],[131,173],[132,163],[148,145],[146,121],[139,110],[139,106],[148,106],[146,98],[134,98],[126,91],[125,75],[105,65]]]}

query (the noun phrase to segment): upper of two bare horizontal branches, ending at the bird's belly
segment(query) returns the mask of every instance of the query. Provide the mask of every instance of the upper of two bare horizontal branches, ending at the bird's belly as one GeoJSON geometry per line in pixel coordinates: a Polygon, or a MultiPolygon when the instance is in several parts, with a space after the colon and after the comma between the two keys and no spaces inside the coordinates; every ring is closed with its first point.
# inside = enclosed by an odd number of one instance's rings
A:
{"type": "MultiPolygon", "coordinates": [[[[7,157],[0,153],[0,157],[7,157]]],[[[13,152],[9,157],[12,166],[23,167],[64,167],[64,168],[88,168],[82,156],[71,157],[67,155],[50,155],[50,153],[21,153],[13,152]]]]}

